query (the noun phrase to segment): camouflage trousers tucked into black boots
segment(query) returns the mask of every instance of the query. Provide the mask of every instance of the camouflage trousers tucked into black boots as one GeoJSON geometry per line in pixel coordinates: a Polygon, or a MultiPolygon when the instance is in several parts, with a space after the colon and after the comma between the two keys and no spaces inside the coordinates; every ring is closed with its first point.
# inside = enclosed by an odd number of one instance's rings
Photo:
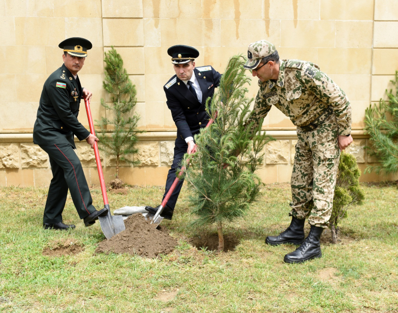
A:
{"type": "MultiPolygon", "coordinates": [[[[316,132],[314,132],[315,137],[313,134],[298,132],[291,180],[293,200],[290,203],[292,207],[290,215],[298,219],[308,217],[310,225],[323,228],[327,227],[332,213],[340,159],[337,128],[332,128],[330,131],[334,135],[331,137],[335,137],[335,139],[319,144],[314,143],[316,132]]],[[[325,129],[323,128],[323,130],[325,129]]],[[[330,134],[328,135],[330,136],[330,134]]]]}

